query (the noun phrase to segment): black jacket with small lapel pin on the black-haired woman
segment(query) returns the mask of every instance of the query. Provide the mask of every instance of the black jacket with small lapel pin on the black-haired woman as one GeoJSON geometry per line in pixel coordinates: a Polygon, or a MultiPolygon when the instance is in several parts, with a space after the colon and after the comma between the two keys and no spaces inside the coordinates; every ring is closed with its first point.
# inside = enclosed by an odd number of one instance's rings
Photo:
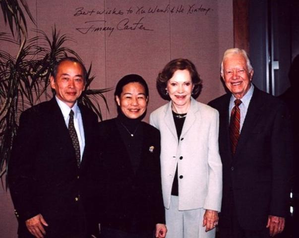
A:
{"type": "MultiPolygon", "coordinates": [[[[153,231],[165,224],[160,174],[160,132],[141,122],[142,151],[138,169],[131,161],[120,135],[116,119],[99,123],[103,186],[99,194],[101,226],[130,231],[137,221],[140,231],[153,231]]],[[[100,184],[100,183],[99,183],[100,184]]],[[[136,225],[136,224],[135,224],[136,225]]]]}

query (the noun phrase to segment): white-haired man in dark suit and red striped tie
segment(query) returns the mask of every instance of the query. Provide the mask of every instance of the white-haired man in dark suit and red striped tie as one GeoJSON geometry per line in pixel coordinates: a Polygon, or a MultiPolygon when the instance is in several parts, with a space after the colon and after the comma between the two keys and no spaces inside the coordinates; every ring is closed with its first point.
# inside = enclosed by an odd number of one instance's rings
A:
{"type": "Polygon", "coordinates": [[[282,101],[251,83],[253,68],[244,50],[225,52],[221,76],[230,93],[209,103],[220,114],[220,237],[273,237],[284,230],[287,215],[290,115],[282,101]]]}

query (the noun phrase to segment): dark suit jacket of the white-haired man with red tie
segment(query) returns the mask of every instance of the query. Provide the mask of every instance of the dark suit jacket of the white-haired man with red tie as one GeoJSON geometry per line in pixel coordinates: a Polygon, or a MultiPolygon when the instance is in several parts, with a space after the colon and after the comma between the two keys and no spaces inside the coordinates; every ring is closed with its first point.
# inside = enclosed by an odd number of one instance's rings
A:
{"type": "Polygon", "coordinates": [[[254,87],[235,156],[229,137],[231,94],[209,103],[219,111],[219,150],[223,164],[221,222],[229,221],[233,191],[237,219],[243,229],[259,230],[268,215],[287,215],[291,149],[290,115],[279,99],[254,87]]]}

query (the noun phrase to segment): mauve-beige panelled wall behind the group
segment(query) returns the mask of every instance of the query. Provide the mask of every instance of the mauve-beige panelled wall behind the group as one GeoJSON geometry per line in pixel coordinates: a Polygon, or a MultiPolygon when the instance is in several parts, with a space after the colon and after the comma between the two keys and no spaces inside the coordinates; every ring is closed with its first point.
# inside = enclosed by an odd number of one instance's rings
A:
{"type": "MultiPolygon", "coordinates": [[[[56,25],[61,34],[69,34],[76,40],[67,46],[80,55],[87,67],[92,63],[92,74],[96,75],[92,88],[115,87],[118,80],[129,73],[143,76],[150,88],[145,120],[150,112],[166,103],[156,91],[155,79],[172,59],[187,58],[196,65],[204,85],[199,101],[207,103],[224,93],[219,65],[225,49],[233,47],[232,0],[27,2],[38,29],[50,36],[51,27],[56,25]],[[104,9],[107,14],[102,13],[104,9]],[[136,29],[123,29],[125,23],[136,29]],[[104,31],[105,26],[113,31],[104,31]]],[[[34,28],[33,24],[29,25],[28,29],[34,28]]],[[[2,31],[9,30],[4,27],[1,15],[2,31]]],[[[30,31],[29,36],[34,33],[30,31]]],[[[1,42],[0,49],[7,48],[15,52],[12,45],[1,42]]],[[[110,113],[100,101],[104,119],[116,116],[113,92],[106,93],[110,113]]],[[[4,191],[0,191],[0,204],[0,238],[13,237],[8,233],[16,233],[16,223],[12,219],[11,201],[4,191]]]]}

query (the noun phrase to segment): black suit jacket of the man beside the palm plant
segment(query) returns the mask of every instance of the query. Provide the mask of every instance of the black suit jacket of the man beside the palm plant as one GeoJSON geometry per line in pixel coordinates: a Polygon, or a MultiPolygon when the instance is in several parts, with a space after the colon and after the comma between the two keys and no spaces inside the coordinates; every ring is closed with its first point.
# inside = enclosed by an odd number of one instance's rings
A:
{"type": "Polygon", "coordinates": [[[21,114],[8,165],[20,235],[29,234],[24,221],[39,213],[53,234],[62,234],[60,228],[67,230],[66,221],[71,226],[73,219],[85,217],[82,200],[88,191],[89,166],[95,158],[97,118],[86,107],[79,108],[85,134],[80,169],[55,98],[21,114]],[[64,227],[59,227],[59,223],[64,227]]]}

